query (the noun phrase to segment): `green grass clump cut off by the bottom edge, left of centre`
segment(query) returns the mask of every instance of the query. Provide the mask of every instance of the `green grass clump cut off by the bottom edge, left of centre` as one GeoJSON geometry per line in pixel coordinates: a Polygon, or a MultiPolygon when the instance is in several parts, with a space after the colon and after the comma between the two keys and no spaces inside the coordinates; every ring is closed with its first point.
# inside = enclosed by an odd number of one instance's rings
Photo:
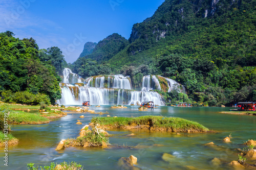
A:
{"type": "Polygon", "coordinates": [[[83,170],[82,165],[77,164],[76,162],[62,162],[60,164],[55,164],[54,162],[51,163],[51,165],[46,165],[44,167],[42,166],[34,166],[34,163],[28,163],[27,167],[29,170],[55,170],[55,169],[61,169],[61,170],[83,170]]]}

